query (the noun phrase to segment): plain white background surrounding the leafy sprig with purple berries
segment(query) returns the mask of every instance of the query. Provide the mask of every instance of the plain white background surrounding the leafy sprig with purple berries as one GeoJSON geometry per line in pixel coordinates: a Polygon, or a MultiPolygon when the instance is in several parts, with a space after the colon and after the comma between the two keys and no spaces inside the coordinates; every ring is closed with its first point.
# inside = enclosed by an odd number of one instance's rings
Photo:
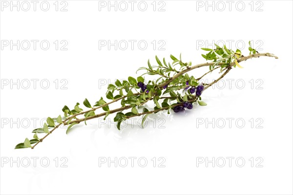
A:
{"type": "MultiPolygon", "coordinates": [[[[1,194],[293,194],[292,1],[243,1],[243,11],[235,7],[237,1],[231,11],[226,1],[222,1],[226,5],[224,11],[213,11],[212,7],[206,11],[205,5],[198,7],[198,2],[191,0],[165,0],[165,11],[158,11],[164,5],[158,1],[156,11],[153,11],[153,1],[146,1],[146,11],[138,9],[139,1],[134,4],[134,11],[128,1],[126,11],[119,8],[108,11],[107,7],[99,11],[99,1],[95,0],[67,0],[68,11],[60,11],[65,5],[61,5],[61,1],[58,11],[53,4],[55,0],[48,1],[49,10],[42,11],[41,2],[36,11],[32,7],[29,11],[1,7],[1,41],[50,42],[48,50],[41,49],[38,43],[36,50],[33,45],[28,50],[17,50],[16,46],[0,50],[1,83],[3,79],[48,79],[50,82],[48,89],[42,89],[40,82],[36,89],[32,82],[29,89],[21,86],[17,89],[10,84],[1,87],[1,160],[39,157],[36,167],[32,159],[28,167],[1,162],[1,194]],[[254,5],[252,11],[249,3],[254,5]],[[262,11],[256,11],[260,5],[262,11]],[[60,50],[61,45],[56,50],[55,40],[66,40],[67,50],[60,50]],[[114,40],[145,40],[148,46],[142,50],[136,42],[133,50],[130,45],[126,50],[115,50],[113,46],[110,50],[107,47],[99,50],[99,40],[112,43],[114,40]],[[158,50],[161,45],[158,43],[154,50],[153,40],[165,41],[165,50],[158,50]],[[201,54],[205,51],[198,48],[211,46],[199,46],[199,41],[212,44],[218,40],[224,40],[227,45],[232,41],[232,49],[236,48],[236,41],[240,42],[239,47],[245,42],[244,55],[249,54],[248,41],[254,41],[256,47],[260,45],[256,44],[259,40],[262,43],[259,52],[273,53],[279,59],[263,57],[242,62],[243,69],[233,69],[224,78],[223,89],[219,89],[222,86],[219,83],[203,94],[208,106],[194,105],[193,110],[172,112],[168,116],[165,112],[151,115],[144,129],[135,123],[118,131],[114,124],[99,125],[99,119],[95,119],[88,121],[87,126],[75,126],[68,135],[66,129],[56,130],[34,150],[14,150],[25,137],[32,138],[31,131],[40,126],[40,119],[57,117],[62,114],[64,105],[73,108],[84,98],[93,104],[101,96],[105,97],[106,85],[101,86],[105,80],[136,78],[143,73],[135,74],[136,70],[146,66],[147,59],[155,64],[155,55],[169,60],[170,54],[178,57],[182,53],[184,61],[192,61],[193,65],[202,63],[205,59],[201,54]],[[53,82],[56,79],[59,79],[58,89],[53,82]],[[68,89],[61,89],[61,79],[68,81],[65,86],[68,89]],[[234,79],[231,86],[227,79],[234,79]],[[237,79],[241,79],[238,84],[237,79]],[[257,79],[260,81],[256,82],[257,79]],[[243,82],[245,86],[240,89],[243,82]],[[37,127],[31,118],[38,118],[37,127]],[[163,119],[159,121],[160,118],[163,119]],[[224,128],[219,125],[213,128],[206,123],[221,118],[226,121],[224,128]],[[227,118],[234,118],[231,127],[227,118]],[[245,121],[243,128],[235,124],[239,118],[245,121]],[[256,128],[257,118],[263,128],[256,128]],[[8,124],[4,124],[3,119],[8,119],[8,124]],[[18,119],[19,123],[11,123],[18,119]],[[199,119],[203,119],[204,124],[200,124],[199,119]],[[30,124],[21,125],[21,121],[30,124]],[[50,160],[48,167],[40,164],[42,157],[50,160]],[[58,167],[56,157],[59,157],[58,167]],[[67,167],[61,167],[61,157],[68,159],[67,167]],[[140,167],[136,159],[131,167],[129,159],[126,167],[115,167],[114,163],[110,167],[106,163],[99,167],[99,157],[112,160],[145,157],[147,165],[140,167]],[[155,167],[153,157],[156,157],[155,167]],[[158,167],[159,157],[166,159],[165,167],[158,167]],[[209,160],[223,157],[226,165],[219,167],[218,164],[222,164],[219,161],[214,167],[212,163],[197,166],[198,157],[209,160]],[[234,157],[231,167],[227,157],[234,157]],[[238,157],[245,159],[243,167],[235,163],[238,157]],[[256,166],[257,157],[263,159],[262,167],[256,166]]],[[[222,8],[217,1],[213,3],[222,8]]],[[[208,71],[208,67],[201,71],[208,71]]],[[[201,73],[194,70],[189,75],[199,77],[201,73]]],[[[209,78],[218,76],[214,73],[209,78]]],[[[109,118],[113,121],[113,116],[109,118]]]]}

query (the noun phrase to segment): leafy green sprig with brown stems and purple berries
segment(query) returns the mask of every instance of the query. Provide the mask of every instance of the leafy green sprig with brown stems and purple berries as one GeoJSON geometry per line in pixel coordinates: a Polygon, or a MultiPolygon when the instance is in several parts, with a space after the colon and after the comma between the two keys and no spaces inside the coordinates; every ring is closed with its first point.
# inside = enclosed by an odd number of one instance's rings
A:
{"type": "MultiPolygon", "coordinates": [[[[249,42],[250,44],[250,42],[249,42]]],[[[179,112],[184,110],[184,106],[188,109],[192,108],[193,103],[198,103],[201,106],[207,105],[204,101],[201,101],[202,93],[210,86],[218,82],[225,77],[232,68],[242,68],[239,65],[240,62],[247,59],[259,58],[259,57],[273,57],[278,59],[275,55],[270,53],[258,53],[255,49],[249,47],[250,55],[243,56],[242,52],[237,49],[235,52],[228,49],[225,45],[220,47],[216,45],[216,49],[202,48],[204,51],[208,51],[207,54],[202,54],[202,57],[209,62],[201,63],[197,65],[191,65],[191,62],[184,62],[181,58],[175,58],[170,55],[170,62],[166,62],[164,58],[162,61],[156,56],[157,65],[151,65],[150,61],[147,61],[146,67],[138,69],[146,71],[144,74],[137,78],[128,77],[127,80],[116,80],[115,84],[109,84],[107,87],[106,98],[110,101],[106,102],[103,97],[97,100],[93,106],[87,100],[84,99],[83,105],[88,108],[84,111],[81,108],[80,103],[76,103],[73,109],[69,109],[68,106],[64,106],[63,117],[59,115],[56,118],[48,117],[46,122],[41,128],[34,129],[32,139],[25,138],[24,142],[16,145],[15,149],[19,148],[32,148],[34,149],[44,138],[53,133],[61,125],[67,126],[66,134],[70,128],[84,121],[97,118],[108,117],[110,114],[116,113],[114,121],[117,123],[117,128],[120,130],[121,123],[131,117],[143,116],[142,125],[146,118],[154,113],[158,113],[167,110],[167,114],[170,114],[170,110],[179,112]],[[252,54],[251,54],[252,53],[252,54]],[[209,66],[209,71],[199,78],[189,76],[188,72],[201,67],[209,66]],[[214,70],[219,69],[221,76],[215,79],[211,83],[200,83],[199,80],[204,78],[214,70]],[[157,76],[154,80],[146,80],[144,75],[157,76]],[[140,86],[139,86],[140,85],[140,86]],[[196,93],[195,93],[196,91],[196,93]],[[195,93],[195,94],[194,94],[195,93]],[[121,107],[110,109],[111,104],[120,101],[121,107]],[[153,101],[153,109],[148,110],[146,103],[153,101]],[[104,112],[96,113],[100,110],[104,112]],[[129,112],[124,112],[131,109],[129,112]],[[81,117],[81,118],[79,118],[81,117]],[[40,134],[45,134],[42,138],[39,138],[40,134]]]]}

